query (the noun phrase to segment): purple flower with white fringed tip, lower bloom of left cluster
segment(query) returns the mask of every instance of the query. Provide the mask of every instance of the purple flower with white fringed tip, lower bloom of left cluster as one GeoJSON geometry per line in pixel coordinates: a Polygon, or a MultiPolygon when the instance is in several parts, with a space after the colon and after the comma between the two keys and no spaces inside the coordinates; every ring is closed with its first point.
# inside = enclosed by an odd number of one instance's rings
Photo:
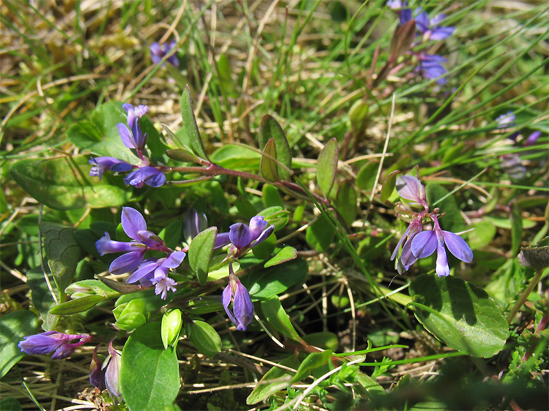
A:
{"type": "Polygon", "coordinates": [[[166,299],[167,291],[175,291],[177,283],[168,277],[170,269],[176,269],[185,258],[183,251],[174,251],[165,258],[148,258],[143,264],[126,279],[126,282],[133,283],[139,281],[142,286],[155,286],[156,295],[161,294],[162,299],[166,299]]]}

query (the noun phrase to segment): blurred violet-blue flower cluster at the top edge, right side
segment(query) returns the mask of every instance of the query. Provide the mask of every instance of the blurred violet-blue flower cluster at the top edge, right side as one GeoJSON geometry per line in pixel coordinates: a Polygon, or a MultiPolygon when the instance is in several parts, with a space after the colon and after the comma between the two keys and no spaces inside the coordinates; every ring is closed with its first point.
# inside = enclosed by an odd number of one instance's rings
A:
{"type": "MultiPolygon", "coordinates": [[[[455,27],[443,26],[441,21],[446,18],[445,14],[438,14],[432,18],[429,18],[427,12],[423,12],[419,7],[412,13],[412,9],[408,8],[408,2],[402,0],[389,0],[387,1],[389,8],[396,10],[399,15],[400,25],[408,23],[408,21],[414,19],[416,23],[416,29],[418,31],[417,37],[419,40],[412,43],[412,47],[419,45],[420,42],[427,40],[444,40],[454,34],[455,27]]],[[[447,70],[443,66],[443,63],[447,62],[447,59],[441,55],[428,54],[423,51],[412,52],[419,61],[417,70],[422,73],[425,78],[437,79],[438,84],[446,84],[447,80],[443,75],[447,73],[447,70]]]]}

